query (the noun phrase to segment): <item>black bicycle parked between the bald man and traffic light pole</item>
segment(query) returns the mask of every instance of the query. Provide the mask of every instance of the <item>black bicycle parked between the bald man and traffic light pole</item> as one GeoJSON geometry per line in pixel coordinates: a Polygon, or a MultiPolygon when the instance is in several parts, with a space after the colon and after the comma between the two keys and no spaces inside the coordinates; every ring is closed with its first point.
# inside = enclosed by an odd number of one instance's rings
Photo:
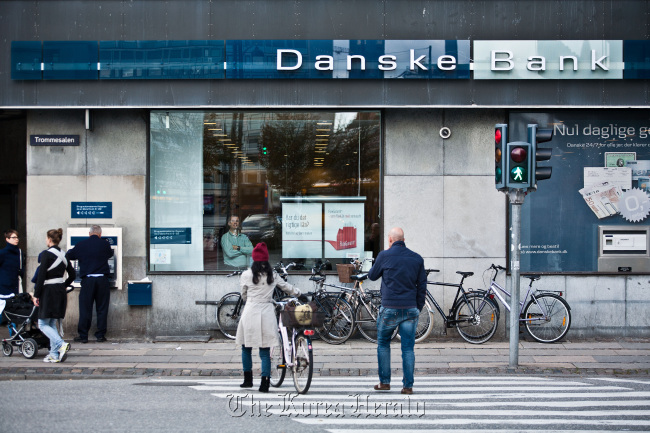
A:
{"type": "MultiPolygon", "coordinates": [[[[426,272],[428,276],[431,272],[439,272],[439,270],[426,269],[426,272]]],[[[496,332],[500,314],[497,303],[485,296],[485,290],[465,290],[463,282],[465,278],[474,275],[473,272],[457,271],[456,273],[462,277],[458,284],[427,281],[427,284],[431,285],[456,287],[456,296],[449,314],[445,314],[431,292],[427,290],[425,307],[420,312],[416,329],[416,341],[424,340],[433,330],[433,308],[444,322],[445,333],[447,328],[455,327],[458,334],[468,343],[484,343],[496,332]]]]}

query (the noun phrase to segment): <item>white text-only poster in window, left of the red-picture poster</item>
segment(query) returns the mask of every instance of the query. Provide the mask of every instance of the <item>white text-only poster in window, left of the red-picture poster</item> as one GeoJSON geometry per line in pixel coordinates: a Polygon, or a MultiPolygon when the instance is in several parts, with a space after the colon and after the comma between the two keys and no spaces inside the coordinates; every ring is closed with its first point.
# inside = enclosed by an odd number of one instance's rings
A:
{"type": "Polygon", "coordinates": [[[323,252],[323,205],[282,205],[282,257],[320,258],[323,252]]]}

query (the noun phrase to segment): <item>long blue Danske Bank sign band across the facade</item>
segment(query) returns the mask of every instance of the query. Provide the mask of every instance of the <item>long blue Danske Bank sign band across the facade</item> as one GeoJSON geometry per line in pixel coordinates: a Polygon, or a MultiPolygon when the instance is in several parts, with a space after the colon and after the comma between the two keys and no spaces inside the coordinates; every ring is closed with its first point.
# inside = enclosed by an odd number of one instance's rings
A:
{"type": "Polygon", "coordinates": [[[647,79],[650,41],[13,41],[13,80],[647,79]]]}

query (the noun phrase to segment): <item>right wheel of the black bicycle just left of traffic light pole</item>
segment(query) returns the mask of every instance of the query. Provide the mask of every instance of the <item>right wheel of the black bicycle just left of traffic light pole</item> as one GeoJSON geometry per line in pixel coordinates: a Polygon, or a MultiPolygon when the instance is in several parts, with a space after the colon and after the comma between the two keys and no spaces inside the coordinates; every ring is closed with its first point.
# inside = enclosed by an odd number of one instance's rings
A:
{"type": "Polygon", "coordinates": [[[493,301],[477,293],[461,298],[455,308],[456,330],[468,343],[488,341],[497,330],[499,314],[493,301]]]}

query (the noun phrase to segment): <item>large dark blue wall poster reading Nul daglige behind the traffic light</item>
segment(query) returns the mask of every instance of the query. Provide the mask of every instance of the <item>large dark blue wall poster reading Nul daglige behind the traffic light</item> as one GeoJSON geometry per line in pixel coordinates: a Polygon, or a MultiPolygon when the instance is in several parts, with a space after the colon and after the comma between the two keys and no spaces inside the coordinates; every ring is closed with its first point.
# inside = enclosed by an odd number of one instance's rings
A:
{"type": "Polygon", "coordinates": [[[650,261],[643,261],[650,260],[647,248],[630,256],[630,266],[619,257],[612,270],[599,260],[600,228],[633,231],[650,223],[647,113],[512,113],[510,120],[509,141],[526,141],[530,123],[553,129],[552,140],[538,144],[553,151],[538,163],[551,166],[552,176],[538,182],[522,205],[521,271],[650,272],[650,261]]]}

